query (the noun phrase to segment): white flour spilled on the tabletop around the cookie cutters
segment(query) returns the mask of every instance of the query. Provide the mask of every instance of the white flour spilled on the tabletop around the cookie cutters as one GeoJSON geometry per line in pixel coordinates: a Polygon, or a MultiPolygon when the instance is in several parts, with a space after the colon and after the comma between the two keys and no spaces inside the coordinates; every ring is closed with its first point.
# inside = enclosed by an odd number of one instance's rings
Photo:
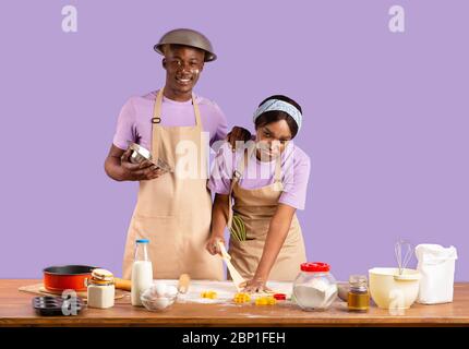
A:
{"type": "MultiPolygon", "coordinates": [[[[178,286],[178,280],[160,280],[168,286],[178,286]]],[[[267,286],[274,290],[275,293],[285,293],[287,299],[291,297],[292,282],[269,281],[267,286]]],[[[202,303],[202,304],[219,304],[231,303],[237,289],[232,281],[209,281],[209,280],[191,280],[189,291],[184,294],[178,294],[178,303],[202,303]],[[217,292],[216,299],[202,298],[201,293],[205,291],[217,292]]],[[[269,293],[252,293],[252,297],[266,296],[269,293]]]]}

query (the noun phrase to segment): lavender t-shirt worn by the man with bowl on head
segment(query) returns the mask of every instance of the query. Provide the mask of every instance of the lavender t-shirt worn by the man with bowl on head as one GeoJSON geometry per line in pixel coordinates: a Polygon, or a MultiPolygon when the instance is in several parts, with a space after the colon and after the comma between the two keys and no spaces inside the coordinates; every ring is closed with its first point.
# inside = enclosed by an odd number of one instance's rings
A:
{"type": "MultiPolygon", "coordinates": [[[[143,147],[152,148],[152,118],[157,91],[145,96],[131,97],[123,105],[112,143],[121,149],[127,149],[128,142],[135,142],[143,147]]],[[[202,127],[209,133],[211,145],[224,140],[227,134],[227,120],[216,103],[195,96],[195,101],[201,110],[202,127]]],[[[192,99],[176,101],[163,96],[161,125],[164,127],[190,127],[195,124],[194,107],[192,99]]]]}

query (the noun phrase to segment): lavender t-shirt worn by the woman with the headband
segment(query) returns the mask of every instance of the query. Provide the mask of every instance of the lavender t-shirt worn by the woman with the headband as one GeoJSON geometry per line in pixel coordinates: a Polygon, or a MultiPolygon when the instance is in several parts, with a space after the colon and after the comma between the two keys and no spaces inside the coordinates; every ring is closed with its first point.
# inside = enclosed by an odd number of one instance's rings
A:
{"type": "MultiPolygon", "coordinates": [[[[233,170],[238,168],[243,151],[232,153],[228,143],[218,151],[213,164],[208,188],[218,194],[228,194],[233,170]]],[[[275,160],[261,161],[255,154],[249,158],[239,185],[243,189],[258,189],[274,182],[275,160]]],[[[289,142],[281,154],[281,183],[284,191],[279,203],[304,209],[308,180],[310,178],[310,157],[292,142],[289,142]]]]}

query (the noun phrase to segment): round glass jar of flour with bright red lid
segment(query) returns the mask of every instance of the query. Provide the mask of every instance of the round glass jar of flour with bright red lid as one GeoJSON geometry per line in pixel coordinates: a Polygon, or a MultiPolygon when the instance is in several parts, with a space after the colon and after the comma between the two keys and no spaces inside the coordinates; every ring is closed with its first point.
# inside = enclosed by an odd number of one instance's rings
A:
{"type": "Polygon", "coordinates": [[[302,263],[293,281],[293,300],[304,311],[327,310],[337,298],[337,281],[327,263],[302,263]]]}

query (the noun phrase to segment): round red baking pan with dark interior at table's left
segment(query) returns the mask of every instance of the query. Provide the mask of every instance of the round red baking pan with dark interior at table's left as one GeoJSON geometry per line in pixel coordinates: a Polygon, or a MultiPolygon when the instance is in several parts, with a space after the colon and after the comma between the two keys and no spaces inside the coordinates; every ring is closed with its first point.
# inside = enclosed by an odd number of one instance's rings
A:
{"type": "Polygon", "coordinates": [[[62,265],[49,266],[44,272],[44,286],[48,291],[62,292],[72,289],[77,292],[86,291],[85,279],[92,277],[96,266],[62,265]]]}

